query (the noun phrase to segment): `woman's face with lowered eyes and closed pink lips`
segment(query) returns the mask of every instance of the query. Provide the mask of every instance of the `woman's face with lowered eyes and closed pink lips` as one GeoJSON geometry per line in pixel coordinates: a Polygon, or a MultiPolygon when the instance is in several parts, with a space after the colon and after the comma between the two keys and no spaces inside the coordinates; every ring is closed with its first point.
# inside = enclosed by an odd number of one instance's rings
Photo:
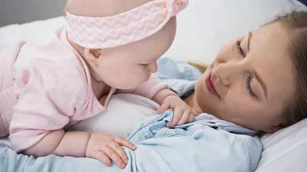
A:
{"type": "Polygon", "coordinates": [[[228,42],[196,83],[200,108],[250,129],[279,130],[295,87],[288,42],[279,23],[228,42]]]}

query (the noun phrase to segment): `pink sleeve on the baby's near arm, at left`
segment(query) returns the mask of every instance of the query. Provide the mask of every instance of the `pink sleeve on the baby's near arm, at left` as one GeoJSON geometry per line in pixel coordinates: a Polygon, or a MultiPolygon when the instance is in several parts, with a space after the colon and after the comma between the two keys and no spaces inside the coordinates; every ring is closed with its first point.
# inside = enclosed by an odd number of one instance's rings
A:
{"type": "Polygon", "coordinates": [[[63,67],[50,62],[24,61],[13,69],[17,104],[9,138],[16,152],[30,148],[50,131],[66,126],[70,117],[81,110],[87,96],[85,81],[63,67]]]}

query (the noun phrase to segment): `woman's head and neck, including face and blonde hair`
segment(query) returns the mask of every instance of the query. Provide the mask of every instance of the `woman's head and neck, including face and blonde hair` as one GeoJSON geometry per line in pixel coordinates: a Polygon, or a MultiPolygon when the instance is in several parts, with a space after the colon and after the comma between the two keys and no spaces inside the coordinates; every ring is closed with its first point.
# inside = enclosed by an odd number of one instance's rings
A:
{"type": "Polygon", "coordinates": [[[208,113],[268,133],[306,118],[306,19],[306,12],[279,16],[228,42],[185,99],[195,115],[208,113]]]}

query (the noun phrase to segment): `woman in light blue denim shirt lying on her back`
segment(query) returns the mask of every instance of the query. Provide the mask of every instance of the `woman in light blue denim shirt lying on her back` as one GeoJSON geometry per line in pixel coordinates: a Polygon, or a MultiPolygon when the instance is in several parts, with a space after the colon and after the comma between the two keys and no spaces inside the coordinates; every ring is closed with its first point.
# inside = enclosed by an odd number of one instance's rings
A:
{"type": "MultiPolygon", "coordinates": [[[[162,69],[158,76],[169,78],[162,69]]],[[[306,70],[307,12],[292,12],[228,42],[197,82],[165,80],[202,115],[172,129],[166,128],[170,110],[146,118],[128,138],[137,150],[124,148],[126,168],[53,155],[34,160],[5,148],[1,166],[4,171],[253,171],[261,153],[257,131],[274,133],[306,118],[306,70]]]]}

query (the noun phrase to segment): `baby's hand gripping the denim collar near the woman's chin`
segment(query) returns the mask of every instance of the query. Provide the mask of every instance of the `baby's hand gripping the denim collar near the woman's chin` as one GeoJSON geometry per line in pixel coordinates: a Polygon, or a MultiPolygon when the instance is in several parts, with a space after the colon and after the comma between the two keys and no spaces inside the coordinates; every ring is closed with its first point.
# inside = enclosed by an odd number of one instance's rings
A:
{"type": "Polygon", "coordinates": [[[174,113],[171,123],[167,125],[168,128],[181,126],[183,124],[193,122],[194,120],[195,115],[193,114],[189,105],[187,105],[177,95],[167,96],[163,100],[161,107],[156,112],[161,114],[167,109],[172,109],[174,113]]]}

